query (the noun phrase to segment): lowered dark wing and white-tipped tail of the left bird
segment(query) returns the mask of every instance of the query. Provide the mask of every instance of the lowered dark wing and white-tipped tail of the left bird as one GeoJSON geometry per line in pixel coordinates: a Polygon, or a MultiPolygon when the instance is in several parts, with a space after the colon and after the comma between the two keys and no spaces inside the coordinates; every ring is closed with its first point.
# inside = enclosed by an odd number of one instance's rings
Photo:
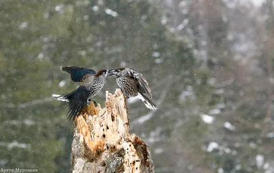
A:
{"type": "Polygon", "coordinates": [[[81,111],[86,108],[88,101],[88,90],[84,86],[79,86],[75,91],[69,94],[52,94],[53,98],[58,101],[69,102],[69,111],[66,114],[69,120],[81,114],[81,111]]]}

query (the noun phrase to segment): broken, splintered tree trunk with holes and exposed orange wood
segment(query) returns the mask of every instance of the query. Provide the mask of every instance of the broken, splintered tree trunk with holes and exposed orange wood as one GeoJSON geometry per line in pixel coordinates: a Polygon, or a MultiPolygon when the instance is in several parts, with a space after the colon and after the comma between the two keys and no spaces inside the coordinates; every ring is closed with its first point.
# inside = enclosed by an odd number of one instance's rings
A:
{"type": "Polygon", "coordinates": [[[120,89],[106,92],[105,108],[87,105],[74,120],[73,173],[154,172],[145,142],[129,133],[125,97],[120,89]]]}

